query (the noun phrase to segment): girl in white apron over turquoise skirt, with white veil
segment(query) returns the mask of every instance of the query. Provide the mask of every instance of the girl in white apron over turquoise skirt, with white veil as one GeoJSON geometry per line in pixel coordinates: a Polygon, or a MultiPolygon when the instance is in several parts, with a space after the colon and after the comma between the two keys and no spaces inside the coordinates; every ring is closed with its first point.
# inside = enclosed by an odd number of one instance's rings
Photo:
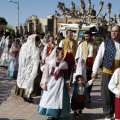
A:
{"type": "Polygon", "coordinates": [[[63,48],[56,47],[43,70],[41,87],[43,95],[38,114],[52,116],[52,120],[67,117],[70,112],[68,65],[63,60],[63,48]]]}

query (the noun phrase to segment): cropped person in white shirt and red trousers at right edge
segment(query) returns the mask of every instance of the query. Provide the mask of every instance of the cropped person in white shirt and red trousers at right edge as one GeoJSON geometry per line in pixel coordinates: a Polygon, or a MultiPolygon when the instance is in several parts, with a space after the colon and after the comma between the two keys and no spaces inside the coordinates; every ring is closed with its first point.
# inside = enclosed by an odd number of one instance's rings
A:
{"type": "Polygon", "coordinates": [[[120,68],[113,73],[108,88],[115,94],[115,120],[120,120],[120,68]]]}

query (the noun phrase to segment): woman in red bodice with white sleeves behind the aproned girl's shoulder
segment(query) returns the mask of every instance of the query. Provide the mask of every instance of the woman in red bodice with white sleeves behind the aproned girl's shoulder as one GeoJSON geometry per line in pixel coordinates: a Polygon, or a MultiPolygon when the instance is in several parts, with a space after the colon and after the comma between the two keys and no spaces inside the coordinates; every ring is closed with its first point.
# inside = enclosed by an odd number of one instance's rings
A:
{"type": "Polygon", "coordinates": [[[43,49],[42,52],[42,63],[45,64],[46,58],[49,57],[52,50],[55,48],[54,36],[50,35],[49,42],[43,49]]]}

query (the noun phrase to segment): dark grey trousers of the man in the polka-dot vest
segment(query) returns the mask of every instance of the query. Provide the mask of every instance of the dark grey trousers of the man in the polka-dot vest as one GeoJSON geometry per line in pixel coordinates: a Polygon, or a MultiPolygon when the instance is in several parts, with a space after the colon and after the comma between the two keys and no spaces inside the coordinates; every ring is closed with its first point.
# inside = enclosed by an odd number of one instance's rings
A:
{"type": "Polygon", "coordinates": [[[115,95],[108,89],[109,81],[112,74],[103,73],[101,83],[101,97],[103,104],[103,112],[105,117],[110,118],[115,112],[115,95]]]}

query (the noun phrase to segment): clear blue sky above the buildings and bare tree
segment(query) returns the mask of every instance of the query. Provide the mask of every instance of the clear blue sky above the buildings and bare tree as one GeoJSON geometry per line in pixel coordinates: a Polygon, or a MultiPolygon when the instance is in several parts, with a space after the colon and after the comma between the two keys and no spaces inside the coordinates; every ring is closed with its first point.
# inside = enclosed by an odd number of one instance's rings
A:
{"type": "MultiPolygon", "coordinates": [[[[17,1],[17,0],[12,0],[17,1]]],[[[64,2],[65,6],[70,8],[72,0],[59,0],[64,2]]],[[[73,0],[76,3],[76,7],[79,8],[80,0],[73,0]]],[[[84,0],[87,3],[88,0],[84,0]]],[[[110,1],[112,3],[111,16],[114,14],[119,14],[120,10],[120,0],[103,0],[104,7],[102,10],[103,15],[107,11],[107,3],[110,1]]],[[[98,11],[100,0],[91,0],[92,5],[95,4],[95,10],[98,11]]],[[[20,5],[20,23],[24,23],[25,20],[35,14],[40,18],[46,18],[48,14],[54,14],[57,10],[58,0],[19,0],[20,5]]],[[[18,24],[18,9],[17,4],[9,2],[9,0],[0,0],[0,17],[4,17],[9,25],[16,26],[18,24]]]]}

